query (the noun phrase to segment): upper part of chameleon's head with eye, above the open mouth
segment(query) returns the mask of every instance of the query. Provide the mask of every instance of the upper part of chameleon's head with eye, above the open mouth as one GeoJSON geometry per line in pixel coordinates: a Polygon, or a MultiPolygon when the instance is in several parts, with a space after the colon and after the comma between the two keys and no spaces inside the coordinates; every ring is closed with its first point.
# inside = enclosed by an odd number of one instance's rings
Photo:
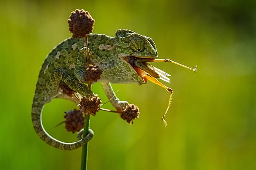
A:
{"type": "Polygon", "coordinates": [[[120,57],[158,58],[156,44],[149,37],[127,29],[118,29],[115,38],[116,51],[120,57]]]}

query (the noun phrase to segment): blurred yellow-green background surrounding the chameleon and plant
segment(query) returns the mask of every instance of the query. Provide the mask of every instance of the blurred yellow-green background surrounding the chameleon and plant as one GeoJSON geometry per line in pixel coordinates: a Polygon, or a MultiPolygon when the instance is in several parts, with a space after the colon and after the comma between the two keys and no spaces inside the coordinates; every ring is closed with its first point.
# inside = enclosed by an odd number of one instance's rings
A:
{"type": "MultiPolygon", "coordinates": [[[[81,149],[60,151],[35,134],[30,112],[45,56],[68,38],[71,11],[85,9],[94,33],[131,29],[151,37],[170,73],[174,90],[165,127],[161,117],[169,93],[149,82],[114,85],[118,97],[141,112],[133,125],[115,113],[90,118],[95,136],[89,170],[256,169],[256,1],[255,0],[1,0],[0,1],[0,169],[79,170],[81,149]]],[[[103,102],[100,84],[93,85],[103,102]]],[[[113,109],[108,103],[104,108],[113,109]]],[[[64,112],[75,105],[53,100],[45,106],[45,129],[63,141],[64,112]]]]}

